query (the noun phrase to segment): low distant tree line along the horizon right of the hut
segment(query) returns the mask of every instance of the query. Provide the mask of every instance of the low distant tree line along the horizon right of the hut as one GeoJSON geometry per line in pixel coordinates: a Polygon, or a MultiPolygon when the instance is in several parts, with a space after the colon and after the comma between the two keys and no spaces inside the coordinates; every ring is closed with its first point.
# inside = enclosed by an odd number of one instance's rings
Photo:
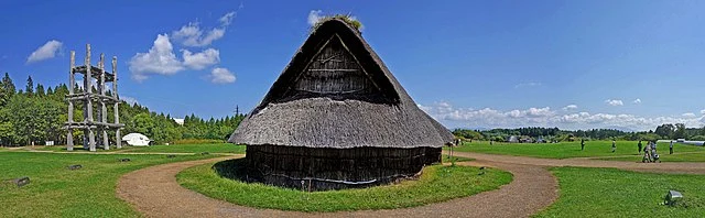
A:
{"type": "Polygon", "coordinates": [[[509,137],[528,137],[543,139],[546,142],[552,141],[574,141],[578,139],[588,140],[675,140],[688,139],[705,141],[704,128],[686,128],[684,123],[664,123],[655,128],[655,130],[626,132],[615,129],[590,129],[590,130],[561,130],[558,128],[517,128],[517,129],[491,129],[491,130],[469,130],[455,129],[455,137],[468,140],[492,140],[506,141],[509,137]]]}

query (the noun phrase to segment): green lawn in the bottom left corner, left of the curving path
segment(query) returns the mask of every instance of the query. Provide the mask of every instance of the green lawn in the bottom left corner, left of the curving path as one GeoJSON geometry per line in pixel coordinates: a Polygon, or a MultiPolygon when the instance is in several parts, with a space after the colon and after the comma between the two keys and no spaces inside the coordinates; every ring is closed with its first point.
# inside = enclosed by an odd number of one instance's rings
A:
{"type": "Polygon", "coordinates": [[[0,152],[0,179],[29,176],[23,187],[0,184],[0,217],[140,217],[116,196],[128,172],[170,162],[216,155],[124,155],[0,152]],[[130,162],[119,162],[119,159],[130,162]],[[69,171],[67,166],[83,168],[69,171]]]}

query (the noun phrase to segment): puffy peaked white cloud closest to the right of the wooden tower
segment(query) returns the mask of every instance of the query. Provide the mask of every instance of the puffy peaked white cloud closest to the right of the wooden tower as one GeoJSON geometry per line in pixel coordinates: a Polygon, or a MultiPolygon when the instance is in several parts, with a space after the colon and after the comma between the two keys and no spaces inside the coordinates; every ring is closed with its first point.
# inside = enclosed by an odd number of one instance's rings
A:
{"type": "Polygon", "coordinates": [[[129,63],[132,78],[142,81],[148,74],[173,75],[184,69],[167,34],[159,34],[148,53],[137,53],[129,63]]]}

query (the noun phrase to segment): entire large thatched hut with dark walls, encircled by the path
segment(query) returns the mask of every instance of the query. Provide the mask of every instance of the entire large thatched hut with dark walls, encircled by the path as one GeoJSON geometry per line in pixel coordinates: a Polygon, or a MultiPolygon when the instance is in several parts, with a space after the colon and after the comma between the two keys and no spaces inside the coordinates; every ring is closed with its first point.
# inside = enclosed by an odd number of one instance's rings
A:
{"type": "Polygon", "coordinates": [[[344,19],[314,28],[230,142],[250,179],[310,190],[368,187],[441,161],[451,132],[409,97],[344,19]]]}

